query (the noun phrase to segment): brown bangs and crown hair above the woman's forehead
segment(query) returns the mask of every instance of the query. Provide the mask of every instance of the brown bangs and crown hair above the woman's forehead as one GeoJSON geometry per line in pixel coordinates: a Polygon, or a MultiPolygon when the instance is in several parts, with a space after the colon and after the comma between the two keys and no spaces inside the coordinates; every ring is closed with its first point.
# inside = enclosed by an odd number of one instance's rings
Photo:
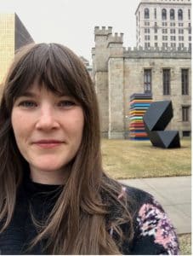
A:
{"type": "MultiPolygon", "coordinates": [[[[83,103],[82,78],[77,73],[80,67],[74,67],[68,54],[55,44],[33,47],[20,59],[17,69],[12,73],[14,84],[11,86],[12,91],[9,91],[12,98],[16,100],[36,82],[54,94],[73,96],[83,103]]],[[[12,81],[11,77],[9,81],[12,81]]]]}

